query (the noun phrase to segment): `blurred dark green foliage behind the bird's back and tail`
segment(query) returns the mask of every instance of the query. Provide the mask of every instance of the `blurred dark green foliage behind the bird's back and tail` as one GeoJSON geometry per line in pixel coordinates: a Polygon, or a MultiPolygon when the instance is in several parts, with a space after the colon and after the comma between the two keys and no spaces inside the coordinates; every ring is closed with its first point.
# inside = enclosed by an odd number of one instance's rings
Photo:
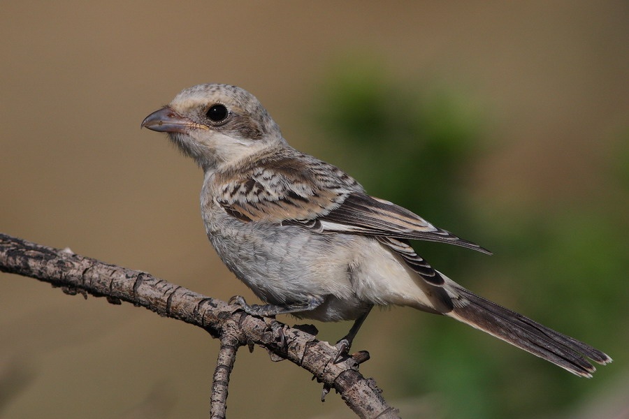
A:
{"type": "MultiPolygon", "coordinates": [[[[484,140],[487,111],[458,87],[392,80],[364,60],[335,66],[313,115],[330,139],[325,158],[369,193],[499,251],[500,257],[488,258],[414,243],[455,281],[612,358],[624,355],[629,331],[626,323],[619,330],[617,319],[629,318],[627,138],[619,141],[619,153],[602,156],[609,160],[610,190],[591,202],[506,210],[489,219],[470,196],[468,179],[470,168],[491,153],[484,140]]],[[[554,416],[620,373],[577,378],[449,318],[418,315],[413,321],[417,332],[389,337],[407,347],[398,375],[409,396],[438,393],[448,418],[554,416]]]]}

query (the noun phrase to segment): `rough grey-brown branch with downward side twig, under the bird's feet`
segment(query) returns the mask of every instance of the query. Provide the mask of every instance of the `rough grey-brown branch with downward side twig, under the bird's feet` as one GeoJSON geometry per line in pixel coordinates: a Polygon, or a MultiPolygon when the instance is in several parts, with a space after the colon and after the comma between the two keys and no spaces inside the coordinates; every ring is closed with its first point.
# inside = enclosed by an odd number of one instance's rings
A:
{"type": "Polygon", "coordinates": [[[106,297],[112,304],[130,302],[160,316],[196,325],[210,332],[212,337],[221,338],[212,385],[212,418],[224,417],[229,372],[236,349],[253,344],[314,374],[317,381],[324,383],[324,388],[339,392],[347,406],[361,418],[398,418],[397,410],[386,404],[375,381],[359,373],[356,360],[349,358],[333,363],[335,348],[298,328],[278,323],[283,332],[282,339],[278,339],[277,333],[264,319],[249,316],[238,306],[194,293],[146,272],[110,265],[77,255],[69,249],[45,247],[2,233],[0,271],[48,282],[62,288],[66,294],[106,297]],[[280,345],[280,341],[285,343],[280,345]]]}

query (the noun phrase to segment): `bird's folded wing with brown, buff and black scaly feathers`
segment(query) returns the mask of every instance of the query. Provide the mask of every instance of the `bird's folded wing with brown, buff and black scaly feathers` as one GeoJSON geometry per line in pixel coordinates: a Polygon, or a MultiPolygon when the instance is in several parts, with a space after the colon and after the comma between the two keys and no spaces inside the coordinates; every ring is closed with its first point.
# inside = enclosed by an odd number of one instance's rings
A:
{"type": "Polygon", "coordinates": [[[216,189],[219,205],[245,222],[296,224],[320,233],[398,241],[444,242],[490,253],[399,205],[366,195],[345,172],[305,154],[270,156],[248,168],[224,173],[217,179],[216,189]]]}

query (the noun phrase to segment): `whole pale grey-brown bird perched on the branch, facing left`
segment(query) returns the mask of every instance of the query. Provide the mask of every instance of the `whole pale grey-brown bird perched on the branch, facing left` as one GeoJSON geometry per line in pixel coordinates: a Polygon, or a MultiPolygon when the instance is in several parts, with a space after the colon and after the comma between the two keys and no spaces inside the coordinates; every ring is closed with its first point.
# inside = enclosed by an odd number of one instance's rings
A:
{"type": "Polygon", "coordinates": [[[142,122],[166,132],[203,169],[201,214],[225,265],[266,305],[249,314],[354,320],[342,358],[373,306],[456,318],[579,376],[605,353],[500,307],[435,270],[409,240],[489,253],[417,214],[367,195],[345,172],[288,145],[261,103],[240,87],[198,84],[142,122]]]}

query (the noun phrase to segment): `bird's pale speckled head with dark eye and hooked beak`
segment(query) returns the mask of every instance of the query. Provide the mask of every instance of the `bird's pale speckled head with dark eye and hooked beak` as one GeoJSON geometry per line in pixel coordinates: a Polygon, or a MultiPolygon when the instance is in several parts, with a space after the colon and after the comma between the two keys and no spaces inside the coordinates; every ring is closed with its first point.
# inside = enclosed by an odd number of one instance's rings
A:
{"type": "Polygon", "coordinates": [[[268,147],[286,145],[280,128],[255,96],[228,84],[183,90],[142,126],[168,133],[204,170],[230,166],[268,147]]]}

